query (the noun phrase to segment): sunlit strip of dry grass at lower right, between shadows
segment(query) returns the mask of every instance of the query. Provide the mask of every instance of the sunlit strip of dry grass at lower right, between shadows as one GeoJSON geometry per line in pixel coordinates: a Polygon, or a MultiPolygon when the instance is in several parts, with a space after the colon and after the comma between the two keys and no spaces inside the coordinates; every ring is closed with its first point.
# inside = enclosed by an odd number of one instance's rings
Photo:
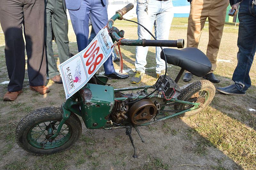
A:
{"type": "Polygon", "coordinates": [[[184,120],[243,168],[256,168],[255,130],[212,107],[184,120]]]}

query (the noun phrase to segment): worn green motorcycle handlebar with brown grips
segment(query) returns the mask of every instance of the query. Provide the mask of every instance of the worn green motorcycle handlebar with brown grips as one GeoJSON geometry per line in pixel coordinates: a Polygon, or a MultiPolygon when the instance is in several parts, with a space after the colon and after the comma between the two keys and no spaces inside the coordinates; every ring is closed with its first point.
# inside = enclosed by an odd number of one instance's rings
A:
{"type": "MultiPolygon", "coordinates": [[[[130,11],[133,8],[133,4],[130,3],[126,5],[121,10],[116,11],[116,14],[108,20],[108,30],[110,30],[113,27],[114,21],[116,19],[123,19],[123,15],[130,11]]],[[[110,32],[109,32],[110,33],[110,32]]],[[[154,47],[178,47],[178,48],[184,48],[184,39],[178,39],[178,40],[127,40],[127,39],[121,39],[121,37],[118,35],[117,32],[113,31],[110,33],[113,41],[116,42],[120,41],[122,45],[128,45],[128,46],[154,46],[154,47]],[[120,40],[121,39],[121,40],[120,40]]]]}

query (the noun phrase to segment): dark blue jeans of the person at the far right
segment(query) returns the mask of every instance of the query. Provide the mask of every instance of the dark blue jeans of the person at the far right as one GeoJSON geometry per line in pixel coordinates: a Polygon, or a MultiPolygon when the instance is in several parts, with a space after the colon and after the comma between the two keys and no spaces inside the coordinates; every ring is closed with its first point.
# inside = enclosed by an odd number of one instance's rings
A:
{"type": "Polygon", "coordinates": [[[239,30],[237,46],[237,66],[232,80],[239,91],[245,92],[251,86],[249,72],[252,66],[256,46],[256,5],[252,0],[243,0],[238,12],[239,30]]]}

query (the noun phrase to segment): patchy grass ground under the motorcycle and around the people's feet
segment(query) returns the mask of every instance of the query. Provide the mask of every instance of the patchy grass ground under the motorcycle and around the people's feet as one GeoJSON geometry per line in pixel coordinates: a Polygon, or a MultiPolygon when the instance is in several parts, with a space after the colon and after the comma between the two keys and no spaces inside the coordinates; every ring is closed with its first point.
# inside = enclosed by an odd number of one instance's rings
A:
{"type": "MultiPolygon", "coordinates": [[[[125,38],[137,39],[137,26],[127,21],[116,21],[124,29],[125,38]]],[[[205,25],[199,49],[206,53],[208,24],[205,25]]],[[[174,18],[169,39],[185,39],[187,18],[174,18]]],[[[216,87],[233,83],[236,67],[238,27],[226,24],[220,45],[215,74],[221,80],[216,87]]],[[[76,54],[76,38],[69,23],[70,52],[76,54]]],[[[185,44],[186,45],[186,44],[185,44]]],[[[53,44],[54,54],[58,54],[53,44]]],[[[133,76],[135,47],[122,46],[124,69],[133,76]]],[[[155,48],[149,47],[146,76],[141,85],[156,81],[155,48]]],[[[114,64],[116,70],[118,65],[114,64]]],[[[101,68],[101,71],[103,69],[101,68]]],[[[178,73],[176,66],[168,67],[172,78],[178,73]]],[[[0,83],[8,81],[4,58],[4,36],[0,27],[0,83]]],[[[140,128],[146,143],[141,143],[133,132],[139,158],[132,158],[132,146],[124,130],[89,130],[83,126],[82,135],[71,149],[61,153],[35,156],[22,150],[15,142],[18,121],[37,108],[60,106],[65,101],[62,85],[49,81],[51,92],[39,95],[29,90],[26,73],[23,93],[14,102],[0,101],[0,169],[256,169],[256,66],[252,64],[252,87],[244,97],[216,95],[203,112],[190,118],[175,117],[148,127],[140,128]],[[254,110],[253,110],[254,109],[254,110]]],[[[193,81],[201,80],[194,77],[193,81]]],[[[124,81],[110,80],[115,88],[137,86],[124,81]]],[[[185,85],[183,81],[180,86],[185,85]]],[[[0,84],[3,96],[7,84],[0,84]]]]}

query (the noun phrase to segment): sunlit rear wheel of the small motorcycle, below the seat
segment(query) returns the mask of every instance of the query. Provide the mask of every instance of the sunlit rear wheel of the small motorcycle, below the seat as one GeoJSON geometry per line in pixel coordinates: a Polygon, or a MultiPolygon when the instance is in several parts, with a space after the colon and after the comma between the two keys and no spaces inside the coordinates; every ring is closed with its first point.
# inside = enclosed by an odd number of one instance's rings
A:
{"type": "MultiPolygon", "coordinates": [[[[201,80],[191,83],[190,85],[188,85],[188,87],[182,90],[180,96],[177,98],[179,100],[196,102],[201,104],[195,110],[185,112],[183,114],[180,114],[180,116],[189,117],[201,112],[206,106],[208,106],[211,103],[214,95],[215,87],[210,81],[201,80]]],[[[194,107],[194,105],[177,103],[175,104],[174,107],[178,110],[186,110],[194,107]]]]}

